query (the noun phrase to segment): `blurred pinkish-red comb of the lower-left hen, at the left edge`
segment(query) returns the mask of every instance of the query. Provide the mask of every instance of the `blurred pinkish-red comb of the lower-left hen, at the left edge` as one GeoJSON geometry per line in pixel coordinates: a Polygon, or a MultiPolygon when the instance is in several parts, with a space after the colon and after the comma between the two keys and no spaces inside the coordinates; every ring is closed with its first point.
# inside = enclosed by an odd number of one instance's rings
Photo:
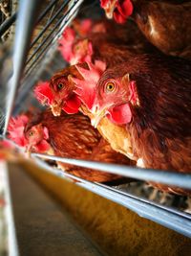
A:
{"type": "Polygon", "coordinates": [[[11,117],[8,127],[9,138],[17,145],[24,147],[27,145],[27,140],[24,136],[24,129],[29,121],[27,115],[20,115],[17,117],[11,117]]]}

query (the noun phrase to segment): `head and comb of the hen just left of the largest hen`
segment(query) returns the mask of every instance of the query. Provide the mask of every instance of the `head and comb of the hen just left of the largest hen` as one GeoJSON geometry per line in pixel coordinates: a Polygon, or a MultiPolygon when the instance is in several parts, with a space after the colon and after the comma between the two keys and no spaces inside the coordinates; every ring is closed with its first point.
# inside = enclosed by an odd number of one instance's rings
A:
{"type": "Polygon", "coordinates": [[[53,115],[60,115],[61,109],[74,114],[78,112],[81,103],[91,108],[96,94],[96,82],[105,66],[104,62],[96,60],[95,64],[80,63],[56,73],[50,82],[53,115]]]}

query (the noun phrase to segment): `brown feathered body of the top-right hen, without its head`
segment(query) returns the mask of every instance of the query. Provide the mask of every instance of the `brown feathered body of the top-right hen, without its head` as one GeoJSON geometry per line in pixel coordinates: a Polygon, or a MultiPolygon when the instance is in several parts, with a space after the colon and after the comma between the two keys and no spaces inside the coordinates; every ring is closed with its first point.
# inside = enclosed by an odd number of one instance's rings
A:
{"type": "Polygon", "coordinates": [[[191,2],[137,1],[140,31],[163,53],[191,59],[191,2]]]}

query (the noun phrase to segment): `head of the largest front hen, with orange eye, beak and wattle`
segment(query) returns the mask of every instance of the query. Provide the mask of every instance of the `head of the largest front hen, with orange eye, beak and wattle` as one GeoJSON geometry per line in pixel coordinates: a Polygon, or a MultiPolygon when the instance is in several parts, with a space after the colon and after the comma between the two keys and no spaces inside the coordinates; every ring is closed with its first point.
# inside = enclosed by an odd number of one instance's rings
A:
{"type": "Polygon", "coordinates": [[[139,105],[136,81],[122,69],[117,68],[116,72],[108,69],[96,85],[92,125],[96,127],[104,116],[117,125],[128,124],[136,105],[139,105]]]}

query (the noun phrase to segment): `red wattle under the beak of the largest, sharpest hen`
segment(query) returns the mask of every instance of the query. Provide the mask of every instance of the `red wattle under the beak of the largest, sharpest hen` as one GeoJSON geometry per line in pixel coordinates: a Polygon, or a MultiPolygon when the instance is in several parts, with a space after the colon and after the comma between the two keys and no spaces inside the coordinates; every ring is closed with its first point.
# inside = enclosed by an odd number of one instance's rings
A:
{"type": "Polygon", "coordinates": [[[117,105],[109,110],[108,118],[117,125],[128,124],[132,120],[132,112],[128,104],[117,105]]]}

